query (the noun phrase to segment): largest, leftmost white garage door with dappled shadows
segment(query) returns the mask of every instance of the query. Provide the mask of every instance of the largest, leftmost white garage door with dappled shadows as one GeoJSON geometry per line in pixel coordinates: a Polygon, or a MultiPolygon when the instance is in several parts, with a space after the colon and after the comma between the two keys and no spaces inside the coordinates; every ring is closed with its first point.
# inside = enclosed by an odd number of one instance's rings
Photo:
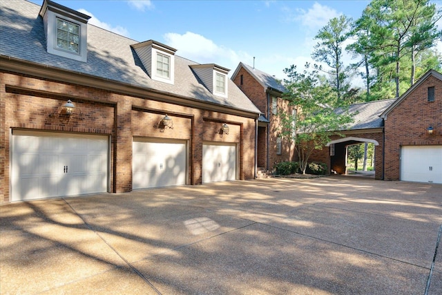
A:
{"type": "Polygon", "coordinates": [[[13,131],[12,201],[104,193],[108,137],[13,131]]]}

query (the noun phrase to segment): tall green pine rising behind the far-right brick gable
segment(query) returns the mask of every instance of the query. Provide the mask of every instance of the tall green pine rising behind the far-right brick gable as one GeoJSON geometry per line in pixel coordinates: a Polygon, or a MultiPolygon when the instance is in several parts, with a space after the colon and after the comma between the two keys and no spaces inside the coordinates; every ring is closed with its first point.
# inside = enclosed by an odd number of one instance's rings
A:
{"type": "Polygon", "coordinates": [[[394,80],[395,96],[401,95],[404,69],[414,83],[416,53],[432,48],[434,41],[441,37],[435,25],[440,17],[441,12],[429,0],[373,0],[369,3],[356,23],[370,30],[365,49],[372,54],[371,64],[382,76],[376,81],[381,84],[378,88],[394,80]]]}

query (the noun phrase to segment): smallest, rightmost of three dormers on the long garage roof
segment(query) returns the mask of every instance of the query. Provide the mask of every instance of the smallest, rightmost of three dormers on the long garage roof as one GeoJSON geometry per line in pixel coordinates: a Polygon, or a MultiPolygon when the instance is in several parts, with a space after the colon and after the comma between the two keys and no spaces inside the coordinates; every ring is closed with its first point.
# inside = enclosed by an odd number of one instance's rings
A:
{"type": "Polygon", "coordinates": [[[191,65],[191,68],[213,95],[227,97],[228,68],[217,64],[195,64],[191,65]]]}

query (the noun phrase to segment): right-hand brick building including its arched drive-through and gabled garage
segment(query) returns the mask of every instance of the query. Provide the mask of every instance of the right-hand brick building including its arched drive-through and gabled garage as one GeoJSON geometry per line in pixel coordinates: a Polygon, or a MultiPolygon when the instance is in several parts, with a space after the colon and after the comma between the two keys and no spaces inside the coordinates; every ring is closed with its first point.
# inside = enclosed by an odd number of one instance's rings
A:
{"type": "Polygon", "coordinates": [[[429,70],[397,99],[349,106],[354,123],[311,161],[347,174],[347,147],[375,144],[375,178],[442,183],[442,74],[429,70]]]}

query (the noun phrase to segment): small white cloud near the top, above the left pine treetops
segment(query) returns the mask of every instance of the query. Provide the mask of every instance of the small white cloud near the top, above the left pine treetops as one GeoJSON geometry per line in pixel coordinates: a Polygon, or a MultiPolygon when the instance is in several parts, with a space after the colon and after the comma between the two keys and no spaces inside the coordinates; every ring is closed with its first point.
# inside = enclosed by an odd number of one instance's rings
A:
{"type": "Polygon", "coordinates": [[[323,26],[327,25],[330,19],[340,15],[333,8],[320,5],[320,3],[317,2],[315,2],[307,11],[300,8],[297,11],[298,15],[295,17],[295,20],[300,21],[302,26],[311,30],[323,28],[323,26]]]}

